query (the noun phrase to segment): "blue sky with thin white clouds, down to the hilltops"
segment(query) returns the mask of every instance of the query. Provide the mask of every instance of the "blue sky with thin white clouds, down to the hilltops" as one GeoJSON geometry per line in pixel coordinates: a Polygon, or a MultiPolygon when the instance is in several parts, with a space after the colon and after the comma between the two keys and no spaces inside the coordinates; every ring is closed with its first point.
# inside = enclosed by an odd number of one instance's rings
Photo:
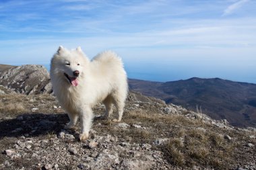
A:
{"type": "Polygon", "coordinates": [[[255,0],[1,0],[0,63],[113,50],[129,78],[256,83],[255,0]]]}

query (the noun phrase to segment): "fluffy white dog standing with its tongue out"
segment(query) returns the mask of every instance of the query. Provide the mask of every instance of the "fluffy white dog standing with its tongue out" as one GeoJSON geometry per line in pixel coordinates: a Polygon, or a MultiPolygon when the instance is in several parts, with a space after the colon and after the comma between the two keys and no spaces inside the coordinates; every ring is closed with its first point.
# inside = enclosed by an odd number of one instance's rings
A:
{"type": "Polygon", "coordinates": [[[73,128],[80,119],[80,140],[89,137],[92,108],[99,101],[106,108],[102,118],[108,118],[115,104],[119,113],[115,121],[121,121],[128,91],[127,75],[121,58],[114,52],[102,52],[90,61],[80,47],[67,50],[60,46],[51,60],[50,75],[53,91],[69,116],[65,128],[73,128]]]}

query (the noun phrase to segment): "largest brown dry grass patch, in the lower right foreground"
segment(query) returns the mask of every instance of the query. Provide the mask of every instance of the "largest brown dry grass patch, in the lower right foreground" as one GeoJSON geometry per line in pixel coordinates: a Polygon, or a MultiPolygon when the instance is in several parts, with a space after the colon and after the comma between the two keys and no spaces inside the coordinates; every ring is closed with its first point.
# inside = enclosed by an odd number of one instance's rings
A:
{"type": "MultiPolygon", "coordinates": [[[[177,136],[180,136],[177,134],[177,136]]],[[[172,139],[161,146],[166,159],[174,165],[181,165],[182,157],[173,158],[172,155],[183,155],[185,167],[203,165],[214,169],[229,169],[234,165],[234,144],[224,140],[223,136],[215,132],[203,132],[196,128],[185,132],[184,144],[172,139]],[[175,149],[174,149],[175,148],[175,149]],[[180,158],[180,160],[177,160],[180,158]],[[214,158],[214,159],[213,159],[214,158]]]]}

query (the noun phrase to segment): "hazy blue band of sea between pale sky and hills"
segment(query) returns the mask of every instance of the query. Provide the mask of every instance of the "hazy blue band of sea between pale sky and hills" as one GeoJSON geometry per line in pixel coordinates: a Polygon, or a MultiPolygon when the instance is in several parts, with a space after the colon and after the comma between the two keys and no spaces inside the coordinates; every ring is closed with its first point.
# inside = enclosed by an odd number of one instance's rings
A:
{"type": "MultiPolygon", "coordinates": [[[[50,64],[44,64],[47,71],[50,71],[50,64]]],[[[237,73],[225,69],[209,69],[209,68],[191,68],[184,65],[172,65],[170,67],[158,67],[156,65],[125,65],[125,71],[129,79],[140,79],[146,81],[178,81],[190,79],[191,77],[199,77],[204,79],[220,78],[230,81],[238,81],[256,84],[256,76],[254,73],[239,70],[237,73]]]]}

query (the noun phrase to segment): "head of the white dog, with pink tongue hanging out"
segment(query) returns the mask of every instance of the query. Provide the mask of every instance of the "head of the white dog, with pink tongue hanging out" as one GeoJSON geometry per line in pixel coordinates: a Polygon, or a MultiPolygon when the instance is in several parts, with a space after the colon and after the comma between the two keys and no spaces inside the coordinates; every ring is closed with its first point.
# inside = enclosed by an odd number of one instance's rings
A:
{"type": "Polygon", "coordinates": [[[63,46],[59,46],[51,60],[51,78],[57,76],[76,87],[80,77],[83,77],[86,67],[88,67],[88,59],[80,47],[75,50],[67,50],[63,46]]]}

